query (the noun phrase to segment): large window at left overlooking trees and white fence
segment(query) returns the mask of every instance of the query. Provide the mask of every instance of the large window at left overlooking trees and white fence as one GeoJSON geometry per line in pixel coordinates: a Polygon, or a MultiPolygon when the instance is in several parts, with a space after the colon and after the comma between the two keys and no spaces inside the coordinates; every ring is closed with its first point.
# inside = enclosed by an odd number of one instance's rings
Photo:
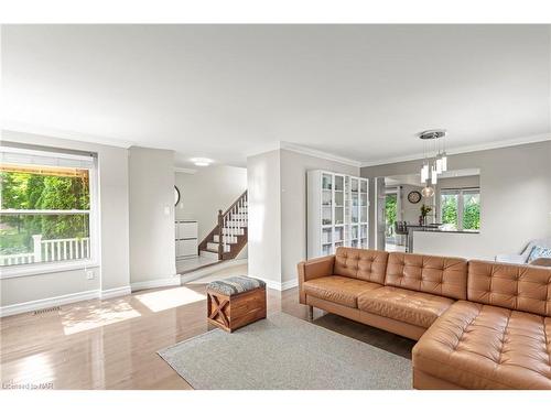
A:
{"type": "Polygon", "coordinates": [[[0,268],[95,258],[95,159],[0,148],[0,268]]]}

